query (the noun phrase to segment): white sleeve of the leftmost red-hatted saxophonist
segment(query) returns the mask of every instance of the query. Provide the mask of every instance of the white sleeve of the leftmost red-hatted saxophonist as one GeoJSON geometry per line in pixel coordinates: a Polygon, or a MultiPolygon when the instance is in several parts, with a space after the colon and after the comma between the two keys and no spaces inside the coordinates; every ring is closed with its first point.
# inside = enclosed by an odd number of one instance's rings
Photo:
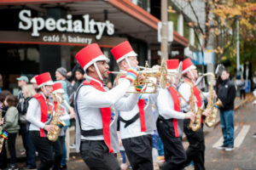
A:
{"type": "Polygon", "coordinates": [[[45,125],[44,122],[41,122],[41,120],[38,120],[36,118],[38,117],[36,116],[37,113],[41,114],[40,103],[38,102],[37,99],[32,98],[31,100],[29,100],[29,106],[26,112],[26,120],[39,128],[44,128],[44,125],[45,125]]]}

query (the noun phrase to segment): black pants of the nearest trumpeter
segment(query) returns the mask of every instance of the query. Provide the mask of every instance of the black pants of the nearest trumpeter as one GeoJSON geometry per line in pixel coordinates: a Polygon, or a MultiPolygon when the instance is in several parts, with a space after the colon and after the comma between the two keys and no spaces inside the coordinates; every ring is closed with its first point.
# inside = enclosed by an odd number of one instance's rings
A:
{"type": "Polygon", "coordinates": [[[119,170],[119,162],[103,140],[84,140],[80,154],[90,170],[119,170]]]}

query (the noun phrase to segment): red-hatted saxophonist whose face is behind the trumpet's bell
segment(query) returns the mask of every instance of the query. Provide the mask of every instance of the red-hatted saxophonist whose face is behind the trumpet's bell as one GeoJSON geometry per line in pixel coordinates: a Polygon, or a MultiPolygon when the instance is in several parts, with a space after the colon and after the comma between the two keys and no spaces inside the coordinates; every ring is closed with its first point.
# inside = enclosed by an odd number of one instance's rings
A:
{"type": "Polygon", "coordinates": [[[179,80],[177,80],[179,61],[178,59],[167,59],[168,81],[170,87],[160,89],[157,98],[159,117],[156,123],[160,139],[165,147],[164,170],[183,169],[186,161],[186,153],[182,144],[183,119],[195,120],[195,114],[191,111],[181,112],[180,94],[177,92],[179,80]]]}

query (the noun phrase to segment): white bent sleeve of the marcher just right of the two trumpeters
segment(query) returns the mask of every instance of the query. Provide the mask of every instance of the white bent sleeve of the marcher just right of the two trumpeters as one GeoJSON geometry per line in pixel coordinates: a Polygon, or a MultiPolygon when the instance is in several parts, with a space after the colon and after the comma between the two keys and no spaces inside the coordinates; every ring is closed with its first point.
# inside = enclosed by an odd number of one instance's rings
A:
{"type": "Polygon", "coordinates": [[[167,88],[160,89],[157,98],[158,111],[165,119],[184,119],[185,114],[183,112],[175,111],[172,95],[167,88]]]}

